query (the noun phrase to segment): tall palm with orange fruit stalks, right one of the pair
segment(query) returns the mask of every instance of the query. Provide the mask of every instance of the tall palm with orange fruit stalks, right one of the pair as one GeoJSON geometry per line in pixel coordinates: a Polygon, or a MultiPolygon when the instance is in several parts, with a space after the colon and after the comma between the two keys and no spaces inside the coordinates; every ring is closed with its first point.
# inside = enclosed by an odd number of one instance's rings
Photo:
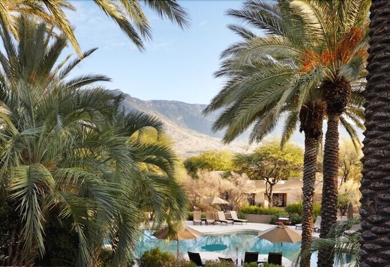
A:
{"type": "MultiPolygon", "coordinates": [[[[320,84],[326,103],[327,130],[323,159],[321,203],[321,238],[326,238],[336,222],[339,155],[339,122],[351,99],[351,82],[359,78],[364,67],[367,14],[369,1],[302,1],[293,4],[317,25],[321,44],[310,51],[307,68],[323,68],[320,84]]],[[[323,249],[318,266],[331,266],[332,253],[323,249]]]]}

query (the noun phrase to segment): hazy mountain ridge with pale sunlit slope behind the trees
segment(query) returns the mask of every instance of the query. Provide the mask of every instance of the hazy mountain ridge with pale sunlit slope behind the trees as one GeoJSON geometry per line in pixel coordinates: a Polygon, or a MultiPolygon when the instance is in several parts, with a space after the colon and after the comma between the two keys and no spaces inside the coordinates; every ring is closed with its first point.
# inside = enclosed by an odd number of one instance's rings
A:
{"type": "MultiPolygon", "coordinates": [[[[116,94],[121,90],[114,90],[116,94]]],[[[143,101],[138,98],[124,94],[123,106],[126,110],[139,110],[160,118],[176,146],[175,151],[181,156],[191,156],[202,153],[206,150],[229,149],[233,152],[249,152],[247,142],[248,133],[244,133],[237,141],[229,145],[221,143],[223,132],[213,133],[211,125],[218,113],[213,112],[203,117],[202,110],[206,105],[188,104],[180,101],[149,100],[143,101]]]]}

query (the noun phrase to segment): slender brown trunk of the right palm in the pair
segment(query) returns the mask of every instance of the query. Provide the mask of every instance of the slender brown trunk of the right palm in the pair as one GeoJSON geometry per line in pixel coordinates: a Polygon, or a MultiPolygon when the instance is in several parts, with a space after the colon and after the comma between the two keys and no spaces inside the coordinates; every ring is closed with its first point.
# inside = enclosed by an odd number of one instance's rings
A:
{"type": "MultiPolygon", "coordinates": [[[[329,228],[335,224],[337,220],[339,121],[340,113],[328,114],[323,159],[320,238],[332,238],[331,236],[328,236],[329,228]]],[[[333,265],[333,253],[330,249],[321,249],[318,251],[317,265],[318,267],[331,267],[333,265]]]]}

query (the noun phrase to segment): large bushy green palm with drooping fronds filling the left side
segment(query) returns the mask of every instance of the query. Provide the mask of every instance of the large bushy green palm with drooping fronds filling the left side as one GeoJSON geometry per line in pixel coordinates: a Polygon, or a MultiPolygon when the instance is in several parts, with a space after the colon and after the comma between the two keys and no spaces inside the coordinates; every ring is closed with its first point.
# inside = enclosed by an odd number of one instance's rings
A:
{"type": "Polygon", "coordinates": [[[1,36],[1,199],[14,218],[5,222],[10,238],[1,247],[9,255],[4,264],[33,264],[43,257],[50,241],[43,235],[46,218],[52,214],[73,221],[77,265],[93,264],[103,237],[115,242],[114,263],[126,264],[144,209],[155,211],[157,224],[186,215],[172,149],[134,138],[145,128],[161,132],[162,123],[142,113],[124,115],[122,95],[93,86],[109,80],[104,76],[67,79],[81,59],[68,56],[55,65],[67,39],[51,35],[46,24],[22,16],[18,36],[4,30],[1,36]]]}

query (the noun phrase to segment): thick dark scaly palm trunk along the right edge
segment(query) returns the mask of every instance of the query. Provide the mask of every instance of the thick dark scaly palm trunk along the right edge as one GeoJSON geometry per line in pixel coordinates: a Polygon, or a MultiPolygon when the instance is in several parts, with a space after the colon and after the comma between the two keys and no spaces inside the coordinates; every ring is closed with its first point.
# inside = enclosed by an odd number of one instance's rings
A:
{"type": "Polygon", "coordinates": [[[363,178],[360,190],[362,235],[360,262],[362,267],[389,266],[390,251],[390,157],[389,157],[389,53],[390,1],[373,0],[366,86],[365,138],[363,178]]]}

